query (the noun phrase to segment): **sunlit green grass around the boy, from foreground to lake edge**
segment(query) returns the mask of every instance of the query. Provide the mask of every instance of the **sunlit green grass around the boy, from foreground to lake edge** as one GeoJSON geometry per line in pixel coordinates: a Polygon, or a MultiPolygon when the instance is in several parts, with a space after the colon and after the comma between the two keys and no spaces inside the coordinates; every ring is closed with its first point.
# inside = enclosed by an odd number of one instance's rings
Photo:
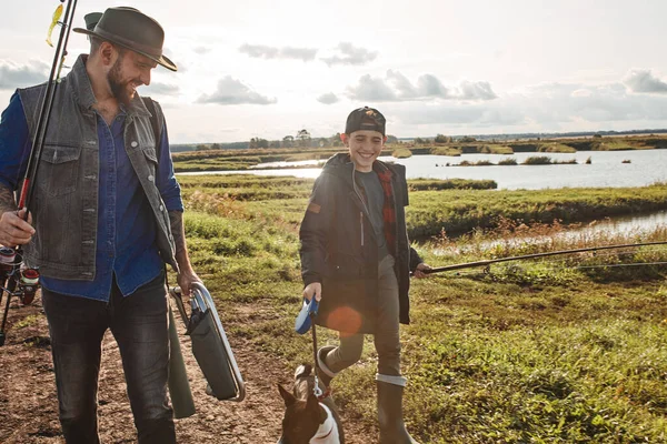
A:
{"type": "MultiPolygon", "coordinates": [[[[298,224],[312,181],[179,180],[191,259],[221,300],[232,344],[242,339],[290,366],[310,362],[310,336],[292,326],[302,287],[298,224]]],[[[410,181],[410,232],[431,225],[477,230],[418,245],[432,265],[667,234],[657,228],[643,236],[564,236],[567,230],[551,223],[558,215],[665,208],[665,184],[514,192],[439,186],[441,181],[410,181]]],[[[412,323],[401,329],[411,433],[436,444],[666,442],[667,269],[608,266],[661,260],[667,249],[644,248],[412,282],[412,323]]],[[[318,339],[336,343],[325,329],[318,339]]],[[[377,423],[376,365],[369,337],[362,360],[334,382],[346,417],[369,426],[377,423]]]]}

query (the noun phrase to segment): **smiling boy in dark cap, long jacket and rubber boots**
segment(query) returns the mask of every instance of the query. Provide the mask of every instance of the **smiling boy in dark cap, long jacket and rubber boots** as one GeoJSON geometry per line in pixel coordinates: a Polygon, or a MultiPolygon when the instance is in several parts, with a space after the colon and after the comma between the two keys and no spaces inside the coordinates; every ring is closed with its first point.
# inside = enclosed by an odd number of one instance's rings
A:
{"type": "Polygon", "coordinates": [[[352,111],[340,138],[348,153],[327,161],[299,232],[303,297],[321,300],[317,323],[339,332],[340,345],[319,350],[318,379],[328,386],[361,357],[364,334],[378,352],[380,443],[415,443],[402,420],[407,380],[400,372],[399,322],[409,322],[410,272],[429,266],[410,246],[405,167],[380,162],[385,117],[352,111]]]}

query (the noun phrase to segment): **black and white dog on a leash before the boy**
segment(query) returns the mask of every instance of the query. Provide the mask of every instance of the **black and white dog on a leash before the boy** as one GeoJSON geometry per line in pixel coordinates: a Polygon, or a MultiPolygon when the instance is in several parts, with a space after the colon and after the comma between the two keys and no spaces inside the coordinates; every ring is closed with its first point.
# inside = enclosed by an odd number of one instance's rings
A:
{"type": "Polygon", "coordinates": [[[278,384],[285,400],[282,435],[278,444],[344,444],[345,435],[336,404],[330,396],[318,400],[313,392],[312,366],[299,365],[293,393],[278,384]]]}

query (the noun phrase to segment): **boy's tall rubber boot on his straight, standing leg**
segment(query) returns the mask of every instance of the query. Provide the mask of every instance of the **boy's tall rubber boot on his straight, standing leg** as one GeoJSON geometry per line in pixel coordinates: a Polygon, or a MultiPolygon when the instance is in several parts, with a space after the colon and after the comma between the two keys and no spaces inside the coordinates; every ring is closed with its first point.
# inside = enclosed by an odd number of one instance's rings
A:
{"type": "Polygon", "coordinates": [[[402,420],[402,393],[406,379],[378,374],[376,380],[380,444],[418,444],[406,430],[402,420]]]}

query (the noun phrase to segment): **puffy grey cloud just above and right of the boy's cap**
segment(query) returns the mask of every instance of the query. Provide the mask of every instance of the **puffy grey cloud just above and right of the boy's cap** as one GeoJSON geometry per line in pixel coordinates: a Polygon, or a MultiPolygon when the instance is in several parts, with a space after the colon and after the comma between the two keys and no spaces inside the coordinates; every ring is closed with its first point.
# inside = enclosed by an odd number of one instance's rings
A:
{"type": "Polygon", "coordinates": [[[412,82],[399,71],[389,70],[385,79],[362,75],[354,87],[348,87],[354,100],[375,102],[469,100],[486,101],[497,98],[489,82],[464,81],[458,88],[448,88],[432,74],[424,74],[412,82]]]}

